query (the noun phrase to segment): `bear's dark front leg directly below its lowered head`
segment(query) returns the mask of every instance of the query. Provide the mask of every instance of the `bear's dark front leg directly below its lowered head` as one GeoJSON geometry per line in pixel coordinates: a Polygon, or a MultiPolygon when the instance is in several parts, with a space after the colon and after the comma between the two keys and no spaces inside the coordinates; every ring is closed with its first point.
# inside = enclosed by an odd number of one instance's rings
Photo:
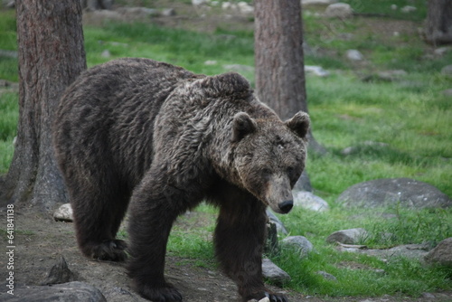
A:
{"type": "Polygon", "coordinates": [[[248,194],[243,199],[238,197],[234,194],[221,197],[215,229],[217,258],[225,273],[239,286],[243,301],[268,297],[272,302],[287,302],[287,297],[271,292],[262,280],[266,207],[248,194]]]}

